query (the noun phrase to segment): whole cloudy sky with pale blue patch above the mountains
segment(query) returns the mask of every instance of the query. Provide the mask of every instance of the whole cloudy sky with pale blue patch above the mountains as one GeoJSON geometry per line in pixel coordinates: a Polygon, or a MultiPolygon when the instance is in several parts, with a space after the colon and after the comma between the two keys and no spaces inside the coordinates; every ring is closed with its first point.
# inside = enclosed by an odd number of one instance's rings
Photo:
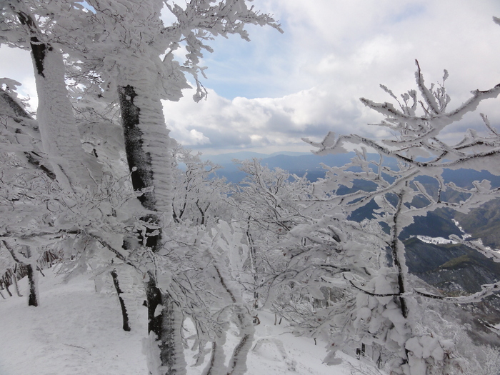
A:
{"type": "MultiPolygon", "coordinates": [[[[254,0],[274,14],[284,34],[249,27],[251,42],[215,39],[206,54],[209,89],[195,104],[186,91],[165,103],[171,135],[204,154],[229,151],[309,151],[301,137],[321,139],[328,131],[384,136],[366,124],[379,121],[359,101],[390,101],[379,84],[396,94],[414,89],[414,60],[427,83],[449,71],[450,106],[474,89],[500,83],[498,0],[254,0]]],[[[29,59],[0,49],[0,77],[21,81],[34,95],[29,59]],[[26,72],[29,72],[26,74],[26,72]]],[[[500,99],[479,111],[500,124],[500,99]]],[[[454,131],[481,123],[479,111],[454,131]]],[[[452,138],[454,134],[449,134],[452,138]]]]}

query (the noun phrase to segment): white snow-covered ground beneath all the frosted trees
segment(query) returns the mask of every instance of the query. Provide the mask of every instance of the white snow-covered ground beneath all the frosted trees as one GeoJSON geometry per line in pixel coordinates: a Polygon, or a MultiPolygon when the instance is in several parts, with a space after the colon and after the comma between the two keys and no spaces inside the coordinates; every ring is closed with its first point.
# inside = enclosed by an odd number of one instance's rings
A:
{"type": "MultiPolygon", "coordinates": [[[[19,283],[24,297],[0,299],[0,375],[148,373],[141,353],[146,308],[140,295],[129,298],[132,330],[126,332],[121,329],[119,302],[112,289],[97,293],[89,276],[64,284],[51,270],[45,274],[39,280],[41,306],[27,306],[26,279],[19,283]]],[[[286,332],[285,324],[274,326],[272,314],[261,312],[259,318],[256,342],[265,337],[276,340],[261,340],[261,346],[251,351],[249,375],[383,374],[349,356],[343,356],[340,365],[326,366],[324,343],[314,345],[313,339],[295,337],[286,332]]],[[[228,341],[234,346],[236,337],[229,334],[228,341]]],[[[193,355],[186,349],[187,361],[193,355]]],[[[202,369],[189,367],[188,374],[200,374],[202,369]]]]}

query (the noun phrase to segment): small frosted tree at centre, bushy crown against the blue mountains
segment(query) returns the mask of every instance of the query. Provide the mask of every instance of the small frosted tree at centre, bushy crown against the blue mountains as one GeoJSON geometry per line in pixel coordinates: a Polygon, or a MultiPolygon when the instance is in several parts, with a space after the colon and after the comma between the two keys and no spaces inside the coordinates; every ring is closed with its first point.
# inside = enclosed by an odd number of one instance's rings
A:
{"type": "Polygon", "coordinates": [[[276,261],[281,263],[278,244],[294,226],[307,221],[304,211],[311,205],[307,202],[311,184],[306,176],[270,169],[261,165],[259,159],[234,162],[246,176],[232,186],[229,203],[235,209],[234,219],[245,233],[249,249],[246,266],[252,275],[246,283],[254,290],[254,307],[258,307],[259,289],[269,275],[275,274],[276,261]]]}

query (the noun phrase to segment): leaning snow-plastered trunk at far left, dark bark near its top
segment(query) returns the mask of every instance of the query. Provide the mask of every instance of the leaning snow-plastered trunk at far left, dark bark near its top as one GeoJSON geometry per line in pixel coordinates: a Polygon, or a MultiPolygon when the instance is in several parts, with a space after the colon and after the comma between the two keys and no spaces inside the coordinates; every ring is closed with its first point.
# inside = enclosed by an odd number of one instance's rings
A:
{"type": "Polygon", "coordinates": [[[34,65],[39,100],[37,123],[46,159],[59,184],[72,191],[99,181],[99,164],[81,148],[66,89],[61,49],[52,43],[50,14],[38,1],[2,1],[0,41],[28,49],[34,65]]]}

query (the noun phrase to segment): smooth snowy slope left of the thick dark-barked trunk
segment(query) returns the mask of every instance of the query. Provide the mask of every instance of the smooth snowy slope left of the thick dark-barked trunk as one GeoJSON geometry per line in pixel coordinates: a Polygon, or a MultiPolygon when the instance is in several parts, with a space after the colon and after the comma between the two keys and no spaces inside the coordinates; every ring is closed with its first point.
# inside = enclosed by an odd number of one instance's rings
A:
{"type": "Polygon", "coordinates": [[[134,332],[123,331],[117,299],[96,293],[93,281],[61,285],[61,277],[45,274],[41,306],[24,297],[0,301],[1,375],[147,374],[144,325],[136,319],[134,332]]]}

